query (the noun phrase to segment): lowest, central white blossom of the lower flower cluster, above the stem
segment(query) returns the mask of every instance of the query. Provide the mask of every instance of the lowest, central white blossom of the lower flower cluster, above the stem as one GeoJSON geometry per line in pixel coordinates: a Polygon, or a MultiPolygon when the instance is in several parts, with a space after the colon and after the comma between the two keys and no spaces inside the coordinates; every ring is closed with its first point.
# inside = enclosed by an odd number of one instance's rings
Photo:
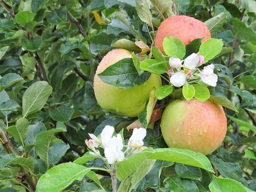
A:
{"type": "Polygon", "coordinates": [[[122,161],[124,157],[123,140],[120,134],[110,138],[105,146],[104,154],[109,164],[113,164],[116,161],[122,161]]]}

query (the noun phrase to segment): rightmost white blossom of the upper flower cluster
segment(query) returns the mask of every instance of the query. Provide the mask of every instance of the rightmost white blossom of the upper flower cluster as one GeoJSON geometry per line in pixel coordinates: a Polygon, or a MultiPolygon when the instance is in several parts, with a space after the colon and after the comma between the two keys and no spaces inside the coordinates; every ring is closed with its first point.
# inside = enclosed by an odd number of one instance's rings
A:
{"type": "Polygon", "coordinates": [[[203,67],[203,70],[201,72],[201,80],[203,83],[206,83],[212,87],[215,87],[217,85],[218,75],[213,73],[213,69],[214,69],[213,64],[203,67]]]}

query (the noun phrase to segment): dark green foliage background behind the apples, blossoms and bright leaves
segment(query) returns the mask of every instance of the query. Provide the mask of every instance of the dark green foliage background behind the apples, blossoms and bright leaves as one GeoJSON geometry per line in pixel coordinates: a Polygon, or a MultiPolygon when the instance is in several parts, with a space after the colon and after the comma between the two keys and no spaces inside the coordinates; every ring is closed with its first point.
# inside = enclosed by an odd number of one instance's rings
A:
{"type": "MultiPolygon", "coordinates": [[[[135,0],[0,0],[1,53],[7,50],[0,60],[0,75],[16,73],[22,77],[10,75],[0,80],[1,90],[6,91],[0,92],[1,139],[6,142],[4,129],[12,127],[8,130],[8,137],[16,148],[15,151],[7,151],[5,144],[1,144],[0,192],[33,191],[33,185],[47,169],[73,162],[86,152],[84,140],[89,139],[88,133],[99,134],[105,125],[113,125],[119,131],[136,120],[105,113],[97,105],[92,89],[96,67],[107,51],[116,49],[113,47],[114,40],[141,40],[151,46],[151,36],[154,37],[157,26],[175,11],[203,22],[221,14],[212,37],[221,38],[233,52],[212,62],[229,68],[233,78],[225,73],[222,75],[233,86],[219,84],[214,95],[227,97],[238,112],[225,108],[229,117],[227,136],[209,158],[216,176],[235,179],[256,191],[256,1],[175,0],[174,9],[169,6],[170,1],[159,0],[158,11],[154,6],[150,9],[154,31],[144,23],[145,20],[140,19],[143,16],[138,17],[141,14],[138,2],[145,3],[146,0],[138,0],[137,4],[135,0]],[[9,48],[4,48],[6,46],[9,48]],[[48,82],[53,90],[51,93],[47,83],[37,83],[34,90],[48,90],[50,96],[41,110],[30,113],[24,109],[24,100],[31,98],[26,96],[24,99],[24,92],[39,80],[48,82]],[[15,102],[8,103],[9,107],[10,104],[13,107],[8,115],[4,110],[6,106],[2,105],[7,100],[15,102]],[[47,139],[48,152],[38,152],[40,144],[35,143],[37,135],[53,128],[59,130],[42,136],[47,139]],[[22,133],[22,136],[17,136],[17,133],[22,133]],[[15,155],[16,160],[10,162],[15,155]],[[17,159],[17,155],[24,159],[17,159]],[[31,177],[34,180],[32,183],[29,182],[31,177]]],[[[140,50],[136,46],[130,49],[140,50]]],[[[159,104],[163,105],[161,102],[159,104]]],[[[130,135],[124,129],[125,139],[130,135]]],[[[166,147],[159,120],[153,129],[147,130],[145,145],[166,147]]],[[[102,162],[96,159],[86,165],[101,167],[102,162]]],[[[102,171],[97,173],[102,175],[101,185],[110,191],[110,175],[102,171]]],[[[203,169],[158,160],[134,191],[159,188],[209,191],[211,180],[212,175],[203,169]],[[159,170],[163,170],[159,178],[152,176],[158,175],[159,170]]],[[[83,177],[82,181],[75,181],[66,191],[98,190],[98,186],[90,182],[91,179],[83,177]]],[[[231,185],[234,186],[233,183],[231,185]]]]}

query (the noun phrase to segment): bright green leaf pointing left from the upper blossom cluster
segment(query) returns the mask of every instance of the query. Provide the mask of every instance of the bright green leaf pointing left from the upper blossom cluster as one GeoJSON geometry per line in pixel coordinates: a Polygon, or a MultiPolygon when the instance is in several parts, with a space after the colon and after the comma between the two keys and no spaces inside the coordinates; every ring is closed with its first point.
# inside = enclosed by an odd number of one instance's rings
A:
{"type": "Polygon", "coordinates": [[[140,62],[140,68],[154,74],[163,74],[167,71],[167,61],[146,59],[140,62]]]}

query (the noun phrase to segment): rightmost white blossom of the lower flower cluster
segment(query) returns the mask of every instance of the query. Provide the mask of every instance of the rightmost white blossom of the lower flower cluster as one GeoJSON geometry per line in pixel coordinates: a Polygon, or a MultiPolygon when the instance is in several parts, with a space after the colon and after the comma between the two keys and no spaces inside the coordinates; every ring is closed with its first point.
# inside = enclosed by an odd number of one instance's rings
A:
{"type": "Polygon", "coordinates": [[[128,146],[140,147],[144,145],[142,141],[146,137],[146,129],[144,128],[134,128],[132,135],[128,141],[128,146]]]}

